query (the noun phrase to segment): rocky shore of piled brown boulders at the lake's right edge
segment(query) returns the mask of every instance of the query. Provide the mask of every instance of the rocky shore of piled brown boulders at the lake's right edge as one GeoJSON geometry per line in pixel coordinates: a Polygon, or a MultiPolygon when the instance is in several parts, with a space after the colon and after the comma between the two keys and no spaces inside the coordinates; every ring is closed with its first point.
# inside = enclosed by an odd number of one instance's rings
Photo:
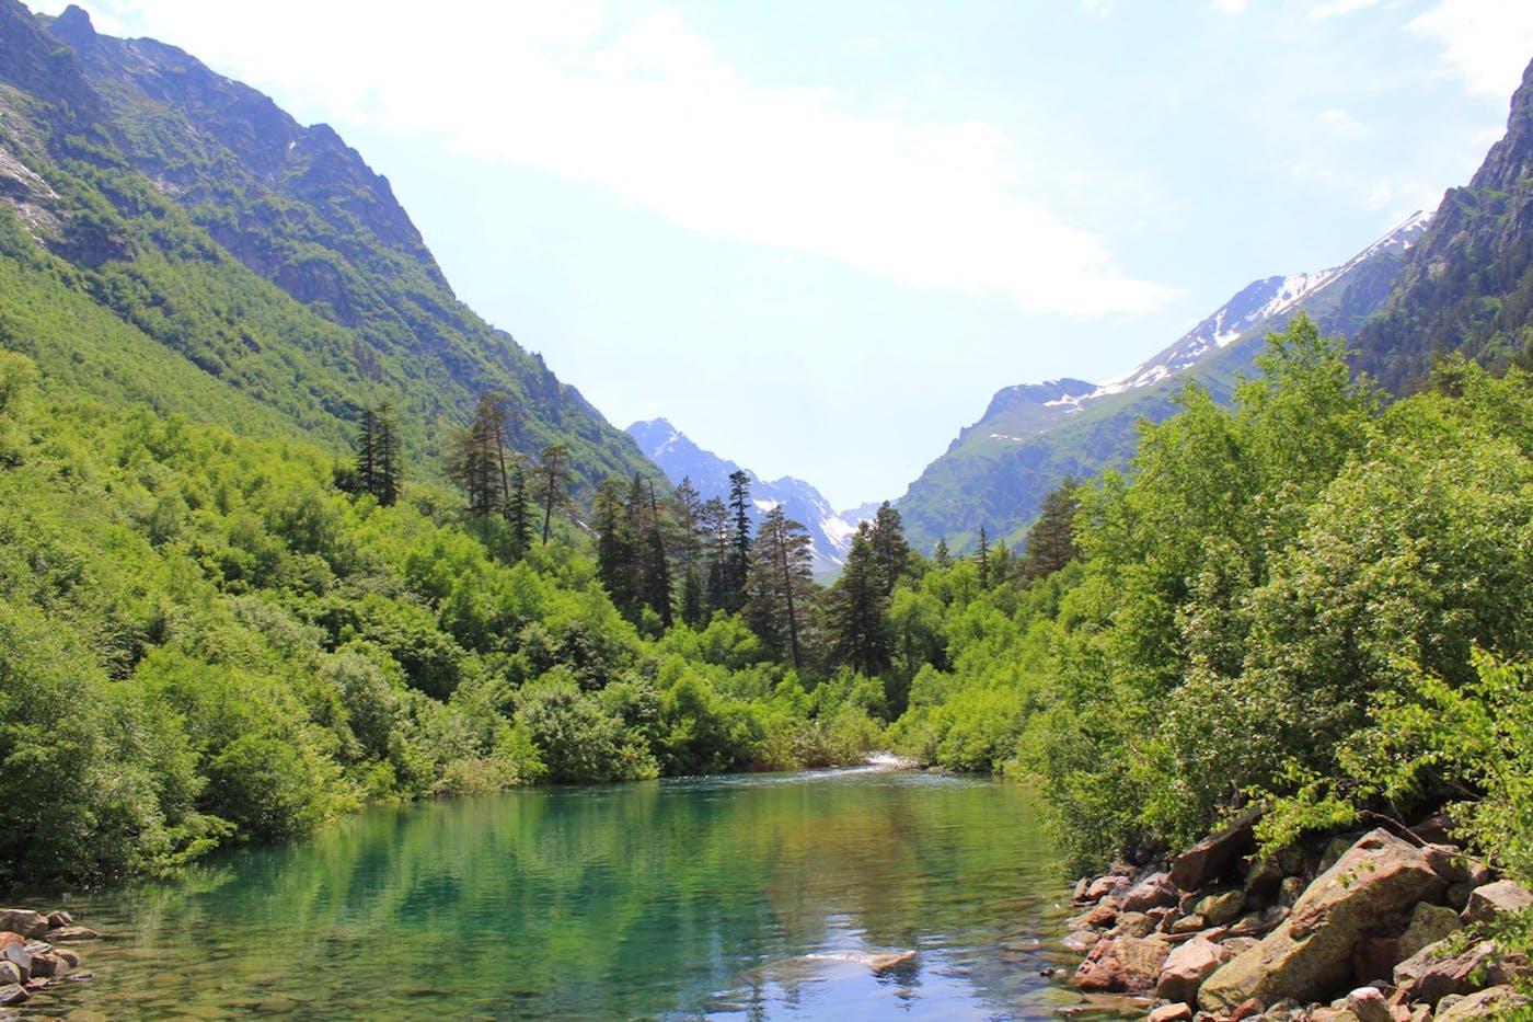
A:
{"type": "Polygon", "coordinates": [[[1462,1022],[1525,1004],[1515,982],[1533,970],[1493,935],[1533,895],[1467,861],[1446,821],[1254,858],[1256,821],[1082,879],[1072,984],[1134,996],[1150,1022],[1462,1022]]]}

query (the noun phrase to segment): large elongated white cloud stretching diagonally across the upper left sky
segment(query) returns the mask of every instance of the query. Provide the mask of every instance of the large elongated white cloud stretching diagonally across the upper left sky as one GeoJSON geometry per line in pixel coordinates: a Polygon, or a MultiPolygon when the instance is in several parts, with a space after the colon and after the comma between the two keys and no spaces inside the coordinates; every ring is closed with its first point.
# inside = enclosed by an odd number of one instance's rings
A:
{"type": "Polygon", "coordinates": [[[852,117],[828,89],[756,87],[665,9],[613,26],[596,3],[474,2],[406,23],[359,0],[268,0],[233,26],[205,0],[97,6],[103,31],[149,32],[310,94],[319,114],[300,114],[440,132],[710,235],[1029,312],[1139,313],[1170,296],[1030,199],[1018,147],[995,127],[852,117]]]}

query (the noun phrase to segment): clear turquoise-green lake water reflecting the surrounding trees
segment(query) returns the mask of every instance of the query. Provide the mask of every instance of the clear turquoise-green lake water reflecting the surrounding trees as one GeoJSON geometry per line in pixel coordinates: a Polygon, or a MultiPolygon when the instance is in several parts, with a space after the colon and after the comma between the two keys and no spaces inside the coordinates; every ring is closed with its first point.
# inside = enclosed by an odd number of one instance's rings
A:
{"type": "MultiPolygon", "coordinates": [[[[832,770],[365,813],[77,898],[48,1016],[1030,1019],[1065,888],[1015,784],[832,770]],[[868,956],[915,951],[875,971],[868,956]]],[[[46,1017],[46,1016],[37,1016],[46,1017]]]]}

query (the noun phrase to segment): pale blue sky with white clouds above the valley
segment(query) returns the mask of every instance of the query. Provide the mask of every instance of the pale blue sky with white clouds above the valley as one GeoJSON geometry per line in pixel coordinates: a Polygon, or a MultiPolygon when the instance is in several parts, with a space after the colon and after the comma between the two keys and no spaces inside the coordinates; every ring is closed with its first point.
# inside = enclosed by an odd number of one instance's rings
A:
{"type": "Polygon", "coordinates": [[[1533,60],[1527,0],[81,6],[331,124],[619,428],[839,508],[1435,209],[1533,60]]]}

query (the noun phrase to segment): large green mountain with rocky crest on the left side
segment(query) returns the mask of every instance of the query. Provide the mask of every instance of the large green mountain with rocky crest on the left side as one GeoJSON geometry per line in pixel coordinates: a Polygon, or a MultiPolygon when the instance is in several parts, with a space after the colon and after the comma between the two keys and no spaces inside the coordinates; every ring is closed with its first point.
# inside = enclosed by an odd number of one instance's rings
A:
{"type": "Polygon", "coordinates": [[[432,474],[477,396],[578,486],[658,474],[537,354],[457,299],[385,178],[328,126],[155,40],[0,0],[0,344],[55,385],[350,450],[399,413],[432,474]]]}

